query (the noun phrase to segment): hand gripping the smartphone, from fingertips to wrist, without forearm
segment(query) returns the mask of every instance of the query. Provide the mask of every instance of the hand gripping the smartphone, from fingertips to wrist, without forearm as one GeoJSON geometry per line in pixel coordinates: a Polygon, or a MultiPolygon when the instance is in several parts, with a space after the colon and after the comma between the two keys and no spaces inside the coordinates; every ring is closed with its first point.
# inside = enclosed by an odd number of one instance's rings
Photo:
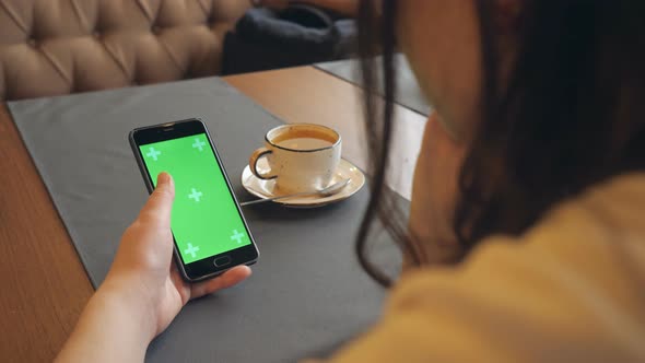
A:
{"type": "Polygon", "coordinates": [[[157,186],[137,220],[126,230],[102,288],[130,290],[153,313],[155,335],[162,332],[186,303],[232,286],[250,276],[246,266],[200,283],[187,283],[173,262],[171,209],[175,185],[162,173],[157,186]]]}

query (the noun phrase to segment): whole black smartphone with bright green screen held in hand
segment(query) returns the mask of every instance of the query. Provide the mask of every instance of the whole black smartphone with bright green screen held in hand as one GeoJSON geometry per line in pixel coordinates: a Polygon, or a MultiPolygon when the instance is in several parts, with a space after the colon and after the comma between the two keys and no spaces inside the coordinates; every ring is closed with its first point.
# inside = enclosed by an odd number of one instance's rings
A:
{"type": "Polygon", "coordinates": [[[129,140],[149,192],[161,172],[175,182],[171,229],[185,280],[206,280],[257,261],[258,249],[201,120],[138,128],[129,140]]]}

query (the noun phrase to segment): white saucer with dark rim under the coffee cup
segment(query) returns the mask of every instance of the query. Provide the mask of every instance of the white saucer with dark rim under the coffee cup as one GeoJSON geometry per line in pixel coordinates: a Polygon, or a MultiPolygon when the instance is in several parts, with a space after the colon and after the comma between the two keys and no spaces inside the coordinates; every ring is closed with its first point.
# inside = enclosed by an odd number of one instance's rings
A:
{"type": "MultiPolygon", "coordinates": [[[[258,169],[267,168],[267,161],[260,159],[258,161],[258,169]]],[[[335,203],[353,196],[356,191],[361,190],[361,188],[365,184],[365,175],[363,175],[363,172],[361,172],[361,169],[354,166],[352,163],[348,162],[344,159],[341,159],[340,164],[338,165],[338,169],[336,171],[336,175],[333,176],[333,179],[331,180],[330,185],[348,178],[351,179],[350,184],[348,184],[347,187],[344,187],[341,191],[337,192],[333,196],[294,197],[283,200],[275,200],[273,202],[286,207],[316,208],[335,203]]],[[[244,172],[242,172],[242,185],[248,192],[258,198],[267,199],[274,197],[273,192],[275,187],[275,180],[262,180],[256,177],[250,172],[250,167],[248,165],[244,168],[244,172]]]]}

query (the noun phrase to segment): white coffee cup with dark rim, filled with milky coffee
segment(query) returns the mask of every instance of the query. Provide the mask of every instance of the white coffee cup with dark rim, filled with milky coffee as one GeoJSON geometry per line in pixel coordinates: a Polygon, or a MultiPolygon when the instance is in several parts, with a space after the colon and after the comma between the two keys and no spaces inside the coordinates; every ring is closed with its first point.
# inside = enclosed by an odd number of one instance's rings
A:
{"type": "Polygon", "coordinates": [[[292,124],[271,129],[265,147],[256,150],[248,165],[260,179],[275,179],[279,194],[315,191],[331,183],[340,163],[342,140],[335,130],[313,124],[292,124]],[[266,157],[269,171],[258,171],[266,157]]]}

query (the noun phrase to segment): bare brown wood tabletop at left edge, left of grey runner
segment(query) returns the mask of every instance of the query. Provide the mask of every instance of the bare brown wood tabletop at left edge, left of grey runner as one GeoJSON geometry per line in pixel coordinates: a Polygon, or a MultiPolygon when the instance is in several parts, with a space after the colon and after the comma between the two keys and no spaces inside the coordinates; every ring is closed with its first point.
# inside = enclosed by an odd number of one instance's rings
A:
{"type": "Polygon", "coordinates": [[[93,290],[4,104],[0,257],[0,361],[51,361],[93,290]]]}

